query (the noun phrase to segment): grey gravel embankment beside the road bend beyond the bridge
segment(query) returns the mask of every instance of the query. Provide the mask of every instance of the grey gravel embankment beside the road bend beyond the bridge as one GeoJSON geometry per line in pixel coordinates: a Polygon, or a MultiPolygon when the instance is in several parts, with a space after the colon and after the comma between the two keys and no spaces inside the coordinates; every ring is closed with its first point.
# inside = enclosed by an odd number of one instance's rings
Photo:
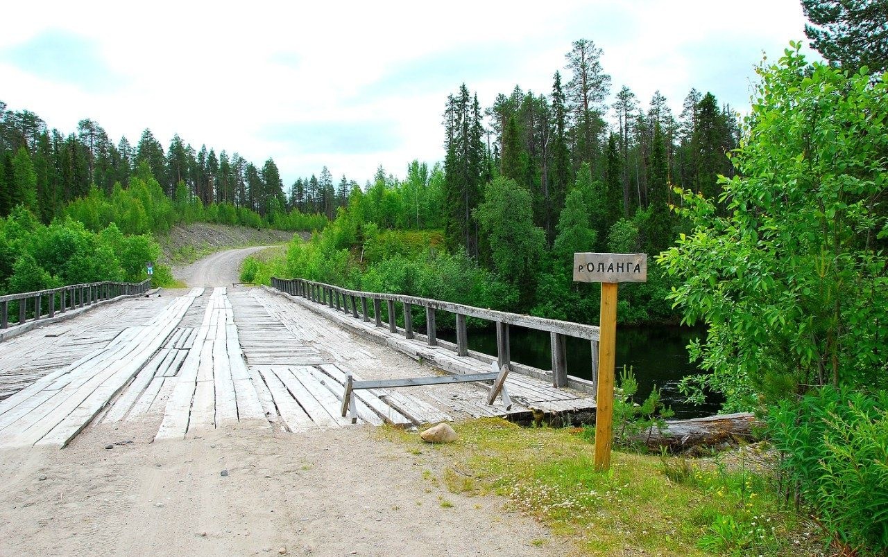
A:
{"type": "MultiPolygon", "coordinates": [[[[295,232],[306,238],[306,232],[295,232]]],[[[169,234],[157,236],[163,249],[163,264],[193,263],[204,255],[231,247],[268,246],[289,242],[294,232],[258,230],[245,226],[194,223],[173,226],[169,234]]]]}

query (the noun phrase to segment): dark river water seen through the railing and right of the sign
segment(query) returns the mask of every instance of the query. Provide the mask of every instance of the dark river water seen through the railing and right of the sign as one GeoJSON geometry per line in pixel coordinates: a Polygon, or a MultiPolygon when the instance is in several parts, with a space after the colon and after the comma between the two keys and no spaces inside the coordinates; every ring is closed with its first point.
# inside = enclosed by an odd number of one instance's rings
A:
{"type": "MultiPolygon", "coordinates": [[[[700,418],[718,412],[719,399],[709,396],[702,405],[686,404],[678,392],[678,381],[686,375],[701,373],[688,362],[689,341],[705,332],[687,327],[618,327],[616,332],[616,380],[622,366],[632,366],[638,380],[639,404],[654,385],[661,389],[662,400],[675,411],[675,418],[700,418]]],[[[551,369],[549,333],[511,326],[511,359],[540,369],[551,369]]],[[[438,336],[456,342],[455,331],[439,331],[438,336]]],[[[496,329],[470,329],[469,348],[496,356],[496,329]]],[[[591,380],[591,343],[567,337],[567,373],[591,380]]]]}

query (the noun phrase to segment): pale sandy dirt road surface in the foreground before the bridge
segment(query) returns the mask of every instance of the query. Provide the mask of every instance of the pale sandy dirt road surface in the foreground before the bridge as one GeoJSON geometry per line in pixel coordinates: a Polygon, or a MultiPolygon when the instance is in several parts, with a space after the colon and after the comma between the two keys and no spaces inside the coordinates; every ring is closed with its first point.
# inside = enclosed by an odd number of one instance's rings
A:
{"type": "Polygon", "coordinates": [[[0,555],[567,553],[533,545],[549,535],[502,498],[424,479],[448,464],[433,447],[414,455],[369,427],[155,443],[150,431],[100,426],[61,451],[0,452],[0,555]]]}

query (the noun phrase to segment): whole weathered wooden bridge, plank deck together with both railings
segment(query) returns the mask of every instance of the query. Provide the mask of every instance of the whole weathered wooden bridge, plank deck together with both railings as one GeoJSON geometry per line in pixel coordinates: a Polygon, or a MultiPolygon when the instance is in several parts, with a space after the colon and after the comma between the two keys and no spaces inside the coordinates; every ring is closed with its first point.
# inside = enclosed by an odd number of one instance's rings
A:
{"type": "Polygon", "coordinates": [[[484,373],[495,360],[511,365],[509,409],[488,405],[483,383],[362,389],[358,422],[409,428],[595,405],[594,381],[567,374],[565,338],[591,341],[594,360],[597,327],[424,298],[301,279],[163,292],[96,283],[6,296],[0,310],[0,448],[63,447],[97,424],[140,424],[158,440],[206,428],[342,428],[352,423],[340,412],[349,375],[484,373]],[[437,338],[436,312],[456,316],[456,344],[437,338]],[[466,318],[496,323],[496,355],[468,349],[466,318]],[[510,326],[549,332],[554,370],[511,362],[510,326]]]}

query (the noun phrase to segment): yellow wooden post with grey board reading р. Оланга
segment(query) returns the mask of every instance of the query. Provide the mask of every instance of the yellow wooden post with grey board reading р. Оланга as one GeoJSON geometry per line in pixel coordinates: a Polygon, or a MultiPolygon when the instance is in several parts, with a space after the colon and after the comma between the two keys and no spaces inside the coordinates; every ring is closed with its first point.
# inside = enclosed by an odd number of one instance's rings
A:
{"type": "Polygon", "coordinates": [[[574,280],[601,283],[599,378],[595,396],[595,469],[610,468],[614,440],[616,292],[621,282],[646,282],[646,254],[574,254],[574,280]]]}

